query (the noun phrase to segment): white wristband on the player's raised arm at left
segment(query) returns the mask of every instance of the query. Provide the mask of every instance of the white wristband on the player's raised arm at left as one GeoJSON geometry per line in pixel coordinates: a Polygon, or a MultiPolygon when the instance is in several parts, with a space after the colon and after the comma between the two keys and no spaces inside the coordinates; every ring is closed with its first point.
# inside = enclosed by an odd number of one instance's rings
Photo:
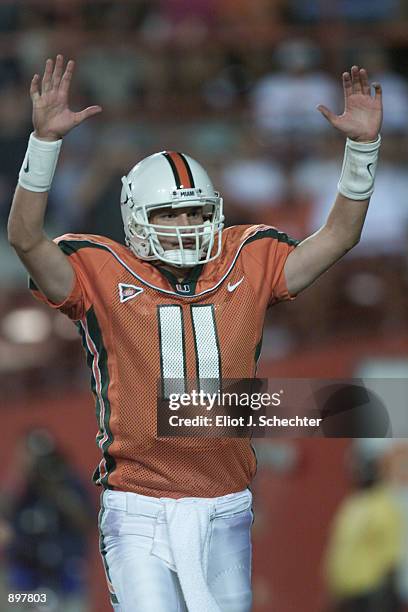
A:
{"type": "Polygon", "coordinates": [[[19,185],[29,191],[49,191],[61,144],[62,140],[40,140],[32,133],[18,175],[19,185]]]}

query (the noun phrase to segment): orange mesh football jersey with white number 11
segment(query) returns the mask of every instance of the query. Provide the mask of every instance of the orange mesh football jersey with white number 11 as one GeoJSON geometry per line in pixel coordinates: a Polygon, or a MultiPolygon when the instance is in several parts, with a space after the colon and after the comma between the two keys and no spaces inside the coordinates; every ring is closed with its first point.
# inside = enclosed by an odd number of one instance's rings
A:
{"type": "Polygon", "coordinates": [[[181,283],[102,236],[56,239],[75,271],[53,304],[76,322],[92,373],[102,460],[94,481],[154,497],[217,497],[251,482],[247,438],[159,438],[159,381],[252,378],[266,309],[290,298],[284,265],[296,242],[267,226],[235,226],[220,257],[181,283]]]}

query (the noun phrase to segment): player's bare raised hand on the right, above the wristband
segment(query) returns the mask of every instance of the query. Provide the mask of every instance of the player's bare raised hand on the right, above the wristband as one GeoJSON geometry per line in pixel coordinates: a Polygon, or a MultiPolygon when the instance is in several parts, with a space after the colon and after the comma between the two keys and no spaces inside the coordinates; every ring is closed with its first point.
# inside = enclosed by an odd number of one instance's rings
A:
{"type": "Polygon", "coordinates": [[[367,71],[353,66],[350,72],[343,72],[344,112],[335,115],[326,106],[317,107],[327,121],[337,130],[358,142],[372,142],[377,139],[382,124],[382,90],[379,83],[373,83],[374,96],[368,82],[367,71]]]}

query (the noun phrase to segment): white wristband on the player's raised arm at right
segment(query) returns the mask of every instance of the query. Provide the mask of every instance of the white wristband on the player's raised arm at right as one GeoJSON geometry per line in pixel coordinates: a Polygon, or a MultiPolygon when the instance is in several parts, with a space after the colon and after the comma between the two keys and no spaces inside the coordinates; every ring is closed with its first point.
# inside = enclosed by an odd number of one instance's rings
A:
{"type": "Polygon", "coordinates": [[[374,191],[381,136],[374,142],[347,138],[338,190],[351,200],[366,200],[374,191]]]}

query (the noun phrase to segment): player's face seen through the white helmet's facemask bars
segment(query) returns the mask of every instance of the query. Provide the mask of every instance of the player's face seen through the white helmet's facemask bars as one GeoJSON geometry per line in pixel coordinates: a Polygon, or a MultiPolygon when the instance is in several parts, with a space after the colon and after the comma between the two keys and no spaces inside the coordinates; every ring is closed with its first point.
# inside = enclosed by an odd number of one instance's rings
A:
{"type": "MultiPolygon", "coordinates": [[[[152,212],[149,221],[152,225],[170,226],[173,228],[175,225],[178,227],[185,227],[188,233],[188,228],[194,225],[201,225],[204,223],[202,208],[200,206],[186,206],[184,208],[178,208],[174,210],[171,206],[161,208],[157,212],[152,212]]],[[[161,229],[161,232],[165,233],[165,229],[161,229]]],[[[169,229],[171,232],[172,229],[169,229]]],[[[169,236],[164,238],[160,236],[160,243],[164,249],[178,249],[179,243],[175,236],[169,236]]],[[[191,240],[185,238],[183,240],[184,248],[189,246],[195,246],[195,239],[192,237],[191,240]]]]}

